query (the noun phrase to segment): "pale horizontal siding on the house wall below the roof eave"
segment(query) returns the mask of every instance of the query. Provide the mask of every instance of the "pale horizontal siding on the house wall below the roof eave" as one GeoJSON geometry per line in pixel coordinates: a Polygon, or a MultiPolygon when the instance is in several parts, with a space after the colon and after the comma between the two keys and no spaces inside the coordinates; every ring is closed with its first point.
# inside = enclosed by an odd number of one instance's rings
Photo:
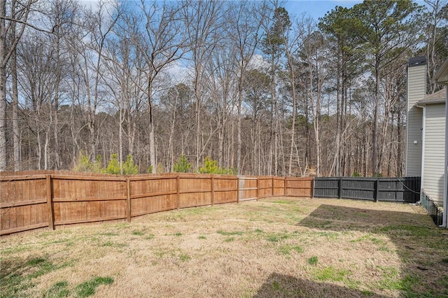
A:
{"type": "Polygon", "coordinates": [[[443,204],[445,105],[430,104],[425,108],[425,143],[422,188],[438,204],[443,204]]]}

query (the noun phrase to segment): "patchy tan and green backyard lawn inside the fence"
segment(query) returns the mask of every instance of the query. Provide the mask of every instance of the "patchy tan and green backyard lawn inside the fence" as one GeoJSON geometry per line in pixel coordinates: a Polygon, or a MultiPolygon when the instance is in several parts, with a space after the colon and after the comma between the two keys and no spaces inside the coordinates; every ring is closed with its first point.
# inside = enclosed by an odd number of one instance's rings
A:
{"type": "Polygon", "coordinates": [[[448,231],[407,204],[276,197],[0,249],[0,297],[448,297],[448,231]]]}

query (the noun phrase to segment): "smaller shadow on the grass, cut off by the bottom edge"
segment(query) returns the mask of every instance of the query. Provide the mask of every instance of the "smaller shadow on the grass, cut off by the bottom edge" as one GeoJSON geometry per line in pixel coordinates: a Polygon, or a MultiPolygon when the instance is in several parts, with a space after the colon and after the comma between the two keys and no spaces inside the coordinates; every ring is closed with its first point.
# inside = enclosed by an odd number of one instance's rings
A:
{"type": "Polygon", "coordinates": [[[331,283],[317,283],[283,274],[271,274],[254,298],[271,297],[386,297],[331,283]]]}

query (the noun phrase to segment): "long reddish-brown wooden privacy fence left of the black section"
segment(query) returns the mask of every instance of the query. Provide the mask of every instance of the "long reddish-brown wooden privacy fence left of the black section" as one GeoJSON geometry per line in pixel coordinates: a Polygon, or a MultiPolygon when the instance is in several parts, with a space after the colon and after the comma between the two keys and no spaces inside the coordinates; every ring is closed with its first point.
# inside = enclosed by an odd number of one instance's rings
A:
{"type": "Polygon", "coordinates": [[[2,174],[0,235],[87,222],[130,221],[160,211],[272,196],[311,197],[312,182],[312,178],[195,174],[2,174]]]}

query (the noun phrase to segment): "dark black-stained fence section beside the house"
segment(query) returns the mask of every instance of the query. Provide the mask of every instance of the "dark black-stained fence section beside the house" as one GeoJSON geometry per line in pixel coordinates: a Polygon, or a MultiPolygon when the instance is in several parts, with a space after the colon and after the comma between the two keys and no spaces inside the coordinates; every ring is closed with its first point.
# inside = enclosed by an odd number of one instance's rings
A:
{"type": "Polygon", "coordinates": [[[416,203],[420,177],[319,177],[314,178],[314,197],[416,203]]]}

